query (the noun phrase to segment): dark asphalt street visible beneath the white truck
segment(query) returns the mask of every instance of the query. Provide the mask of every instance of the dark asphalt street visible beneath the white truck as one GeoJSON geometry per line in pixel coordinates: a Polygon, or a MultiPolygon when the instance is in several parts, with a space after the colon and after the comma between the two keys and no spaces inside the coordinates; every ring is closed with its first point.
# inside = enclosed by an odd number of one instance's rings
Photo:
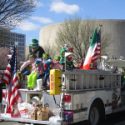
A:
{"type": "MultiPolygon", "coordinates": [[[[0,125],[24,125],[16,122],[1,122],[0,125]]],[[[85,122],[80,122],[74,125],[87,125],[85,122]]],[[[106,117],[106,121],[101,125],[125,125],[125,112],[117,113],[106,117]]]]}

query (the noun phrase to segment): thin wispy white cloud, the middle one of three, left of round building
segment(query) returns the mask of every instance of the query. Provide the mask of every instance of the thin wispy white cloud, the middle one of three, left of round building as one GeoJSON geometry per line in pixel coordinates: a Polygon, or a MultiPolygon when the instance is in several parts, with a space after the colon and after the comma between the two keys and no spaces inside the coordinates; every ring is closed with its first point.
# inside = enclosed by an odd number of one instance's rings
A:
{"type": "Polygon", "coordinates": [[[31,19],[35,20],[37,22],[43,23],[43,24],[48,24],[48,23],[52,23],[53,22],[50,18],[46,18],[46,17],[34,16],[34,17],[31,17],[31,19]]]}

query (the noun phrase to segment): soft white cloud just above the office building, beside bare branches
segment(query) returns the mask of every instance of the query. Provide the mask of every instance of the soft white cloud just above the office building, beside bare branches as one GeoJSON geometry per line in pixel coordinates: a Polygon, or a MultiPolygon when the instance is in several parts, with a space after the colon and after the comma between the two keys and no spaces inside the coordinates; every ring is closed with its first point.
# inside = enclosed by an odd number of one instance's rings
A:
{"type": "Polygon", "coordinates": [[[18,25],[18,28],[23,31],[33,31],[33,30],[37,30],[39,27],[38,27],[38,25],[36,25],[32,22],[23,21],[18,25]]]}

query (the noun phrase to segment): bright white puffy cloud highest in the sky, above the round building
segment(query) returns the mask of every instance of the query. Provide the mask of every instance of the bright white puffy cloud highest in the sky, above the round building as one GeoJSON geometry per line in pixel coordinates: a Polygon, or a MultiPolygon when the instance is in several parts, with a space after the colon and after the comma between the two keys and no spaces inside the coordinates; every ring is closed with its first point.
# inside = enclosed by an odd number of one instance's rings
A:
{"type": "Polygon", "coordinates": [[[79,11],[79,6],[76,4],[66,4],[63,1],[58,1],[52,3],[50,11],[54,11],[56,13],[74,14],[79,11]]]}

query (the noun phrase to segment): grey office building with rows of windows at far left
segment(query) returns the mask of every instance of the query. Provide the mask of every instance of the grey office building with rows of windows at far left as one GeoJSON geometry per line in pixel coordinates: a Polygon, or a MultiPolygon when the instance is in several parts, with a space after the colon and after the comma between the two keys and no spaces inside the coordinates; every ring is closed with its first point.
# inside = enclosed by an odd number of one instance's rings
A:
{"type": "Polygon", "coordinates": [[[26,37],[24,34],[11,32],[10,30],[0,29],[0,47],[17,46],[18,61],[25,59],[25,43],[26,37]]]}

